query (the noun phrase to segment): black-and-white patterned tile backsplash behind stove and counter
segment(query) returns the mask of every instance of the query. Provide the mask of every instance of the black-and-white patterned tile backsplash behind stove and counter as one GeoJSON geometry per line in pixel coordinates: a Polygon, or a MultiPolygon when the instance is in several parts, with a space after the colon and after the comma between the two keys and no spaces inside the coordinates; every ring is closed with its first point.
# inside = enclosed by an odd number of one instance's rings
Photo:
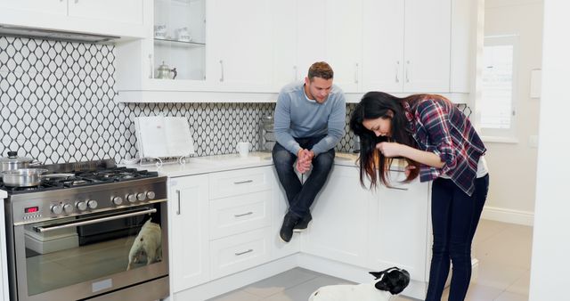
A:
{"type": "MultiPolygon", "coordinates": [[[[158,114],[188,118],[198,156],[233,153],[240,140],[257,149],[259,119],[274,103],[118,103],[114,51],[0,37],[0,155],[18,150],[48,164],[136,158],[133,118],[158,114]]],[[[351,146],[346,134],[337,150],[351,146]]]]}

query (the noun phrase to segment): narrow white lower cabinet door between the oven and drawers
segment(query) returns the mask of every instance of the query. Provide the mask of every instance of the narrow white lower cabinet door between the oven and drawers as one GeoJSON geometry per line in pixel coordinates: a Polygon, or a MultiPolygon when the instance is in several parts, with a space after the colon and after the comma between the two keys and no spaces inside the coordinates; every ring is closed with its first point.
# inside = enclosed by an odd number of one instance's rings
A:
{"type": "Polygon", "coordinates": [[[210,279],[208,175],[168,183],[170,279],[176,293],[210,279]]]}

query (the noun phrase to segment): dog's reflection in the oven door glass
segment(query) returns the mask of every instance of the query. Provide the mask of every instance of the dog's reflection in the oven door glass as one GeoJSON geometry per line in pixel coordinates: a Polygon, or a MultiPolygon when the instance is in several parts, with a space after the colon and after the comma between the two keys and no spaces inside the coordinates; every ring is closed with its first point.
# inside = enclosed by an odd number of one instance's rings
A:
{"type": "Polygon", "coordinates": [[[126,271],[130,270],[133,264],[142,262],[143,257],[146,257],[147,265],[162,260],[162,231],[160,225],[152,223],[151,219],[142,225],[133,241],[131,251],[128,252],[126,271]]]}

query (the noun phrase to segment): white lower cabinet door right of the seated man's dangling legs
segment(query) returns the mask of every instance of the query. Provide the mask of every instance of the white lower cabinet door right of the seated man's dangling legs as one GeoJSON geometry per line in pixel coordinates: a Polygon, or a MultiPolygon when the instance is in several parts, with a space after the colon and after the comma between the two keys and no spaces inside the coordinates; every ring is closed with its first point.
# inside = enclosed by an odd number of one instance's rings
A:
{"type": "Polygon", "coordinates": [[[313,222],[301,251],[346,264],[366,265],[368,212],[374,194],[362,189],[358,168],[335,165],[314,200],[313,222]]]}

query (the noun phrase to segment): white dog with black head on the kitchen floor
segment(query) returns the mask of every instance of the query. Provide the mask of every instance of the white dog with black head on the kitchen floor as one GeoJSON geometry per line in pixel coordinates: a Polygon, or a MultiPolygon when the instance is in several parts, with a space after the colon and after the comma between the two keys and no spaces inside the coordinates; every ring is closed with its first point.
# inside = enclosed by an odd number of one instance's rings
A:
{"type": "Polygon", "coordinates": [[[355,285],[329,285],[314,291],[309,301],[387,301],[410,283],[410,273],[397,267],[371,272],[375,281],[355,285]]]}

